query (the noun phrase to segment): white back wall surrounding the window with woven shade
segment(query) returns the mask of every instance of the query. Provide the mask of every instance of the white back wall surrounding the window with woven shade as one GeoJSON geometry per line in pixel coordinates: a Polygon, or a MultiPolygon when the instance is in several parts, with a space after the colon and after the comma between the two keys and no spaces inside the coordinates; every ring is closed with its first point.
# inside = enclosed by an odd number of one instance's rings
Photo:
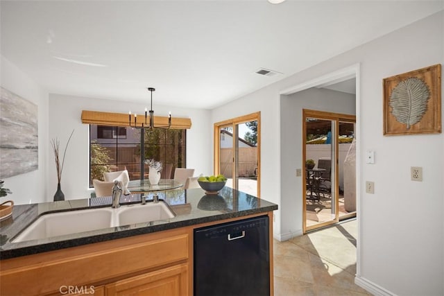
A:
{"type": "MultiPolygon", "coordinates": [[[[147,94],[148,99],[148,94],[147,94]]],[[[62,191],[65,200],[88,198],[91,191],[89,186],[89,125],[81,122],[82,110],[127,113],[129,110],[140,110],[145,105],[123,101],[109,101],[97,98],[82,98],[51,94],[49,96],[49,138],[60,139],[60,149],[65,149],[67,139],[74,129],[74,135],[69,143],[65,166],[62,173],[62,191]]],[[[191,108],[154,105],[155,115],[172,116],[191,119],[191,129],[187,130],[187,167],[195,168],[195,175],[212,174],[212,125],[210,111],[191,108]]],[[[50,151],[52,153],[52,151],[50,151]]],[[[49,200],[57,189],[56,165],[49,162],[49,178],[47,182],[49,200]]]]}

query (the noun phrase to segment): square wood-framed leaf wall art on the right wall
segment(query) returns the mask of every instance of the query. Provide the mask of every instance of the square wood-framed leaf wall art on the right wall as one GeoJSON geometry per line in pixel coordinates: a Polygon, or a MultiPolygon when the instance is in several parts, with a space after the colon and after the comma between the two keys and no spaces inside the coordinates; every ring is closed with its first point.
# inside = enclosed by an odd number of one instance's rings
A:
{"type": "Polygon", "coordinates": [[[384,78],[384,135],[441,133],[441,64],[384,78]]]}

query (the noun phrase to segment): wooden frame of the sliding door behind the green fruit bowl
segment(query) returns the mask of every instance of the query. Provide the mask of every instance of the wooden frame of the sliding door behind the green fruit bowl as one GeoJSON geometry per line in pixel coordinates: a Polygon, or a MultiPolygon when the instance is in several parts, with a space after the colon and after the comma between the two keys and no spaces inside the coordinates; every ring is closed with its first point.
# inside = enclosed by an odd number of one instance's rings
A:
{"type": "Polygon", "coordinates": [[[214,123],[214,175],[219,175],[220,173],[220,132],[221,128],[232,127],[233,130],[233,160],[232,160],[232,176],[233,176],[233,188],[237,189],[237,128],[236,125],[241,123],[246,123],[250,121],[257,121],[257,197],[260,198],[260,180],[261,180],[261,112],[255,112],[251,114],[246,114],[244,116],[235,117],[233,119],[227,119],[225,121],[220,121],[214,123]]]}

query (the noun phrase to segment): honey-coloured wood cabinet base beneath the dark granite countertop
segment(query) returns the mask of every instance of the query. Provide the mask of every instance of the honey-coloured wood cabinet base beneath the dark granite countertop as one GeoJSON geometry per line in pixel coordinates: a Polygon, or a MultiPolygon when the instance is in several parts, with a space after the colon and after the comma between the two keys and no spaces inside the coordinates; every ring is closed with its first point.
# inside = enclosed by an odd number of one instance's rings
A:
{"type": "Polygon", "coordinates": [[[194,228],[252,216],[1,260],[0,295],[193,295],[194,228]]]}

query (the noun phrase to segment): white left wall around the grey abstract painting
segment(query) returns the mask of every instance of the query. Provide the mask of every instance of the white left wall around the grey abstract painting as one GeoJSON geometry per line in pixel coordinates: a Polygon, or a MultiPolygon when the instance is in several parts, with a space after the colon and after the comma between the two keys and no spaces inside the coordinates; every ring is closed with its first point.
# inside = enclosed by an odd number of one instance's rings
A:
{"type": "MultiPolygon", "coordinates": [[[[37,105],[38,110],[38,169],[5,179],[4,187],[12,191],[3,201],[15,204],[44,202],[46,200],[46,164],[48,156],[48,92],[37,85],[15,64],[1,55],[1,86],[37,105]]],[[[3,132],[0,130],[0,133],[3,132]]],[[[1,165],[1,164],[0,164],[1,165]]]]}

